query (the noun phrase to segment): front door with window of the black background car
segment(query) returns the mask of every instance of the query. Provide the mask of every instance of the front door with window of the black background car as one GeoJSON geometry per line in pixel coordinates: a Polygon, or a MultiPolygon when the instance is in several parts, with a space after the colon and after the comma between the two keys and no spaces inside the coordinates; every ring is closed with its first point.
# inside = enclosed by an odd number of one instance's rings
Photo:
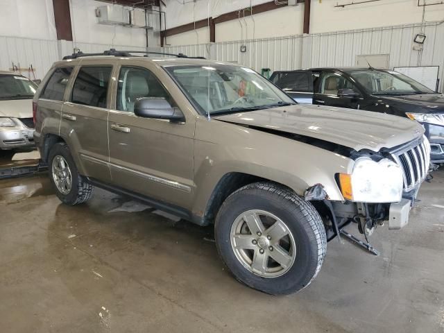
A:
{"type": "Polygon", "coordinates": [[[359,95],[359,89],[343,74],[336,71],[324,71],[316,80],[313,103],[318,105],[336,106],[339,108],[359,109],[361,96],[338,96],[340,89],[352,89],[359,95]]]}

